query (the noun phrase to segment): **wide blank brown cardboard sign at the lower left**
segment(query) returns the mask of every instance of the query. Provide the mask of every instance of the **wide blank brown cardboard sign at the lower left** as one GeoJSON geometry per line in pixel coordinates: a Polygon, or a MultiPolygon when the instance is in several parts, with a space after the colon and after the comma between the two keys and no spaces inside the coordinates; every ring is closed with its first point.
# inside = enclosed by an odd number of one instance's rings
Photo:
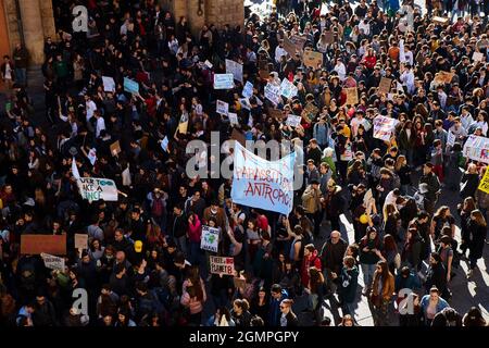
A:
{"type": "Polygon", "coordinates": [[[66,235],[22,235],[21,254],[66,254],[66,235]]]}

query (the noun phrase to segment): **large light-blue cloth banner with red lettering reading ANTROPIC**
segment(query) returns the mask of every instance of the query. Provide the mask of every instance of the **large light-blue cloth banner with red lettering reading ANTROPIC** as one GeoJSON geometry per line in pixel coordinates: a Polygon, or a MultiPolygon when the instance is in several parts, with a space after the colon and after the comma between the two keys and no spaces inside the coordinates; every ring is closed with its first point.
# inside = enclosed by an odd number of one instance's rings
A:
{"type": "Polygon", "coordinates": [[[267,161],[235,144],[233,202],[289,214],[293,206],[296,152],[267,161]]]}

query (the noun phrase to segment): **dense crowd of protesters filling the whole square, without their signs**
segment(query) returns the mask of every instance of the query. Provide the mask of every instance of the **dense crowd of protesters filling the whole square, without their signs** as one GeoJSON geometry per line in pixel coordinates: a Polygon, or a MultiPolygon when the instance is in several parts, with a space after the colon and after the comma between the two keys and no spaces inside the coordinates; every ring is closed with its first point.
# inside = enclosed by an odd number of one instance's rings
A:
{"type": "Polygon", "coordinates": [[[42,107],[26,91],[21,45],[1,65],[0,325],[352,326],[361,297],[378,326],[486,325],[480,308],[451,303],[466,295],[450,287],[463,262],[464,282],[481,277],[486,245],[486,163],[462,149],[469,135],[488,135],[488,1],[427,0],[427,12],[411,0],[330,1],[323,12],[322,1],[276,1],[265,16],[197,34],[154,0],[82,1],[88,32],[73,33],[77,2],[54,1],[42,107]],[[305,42],[290,55],[284,39],[296,36],[305,42]],[[306,50],[323,63],[305,66],[306,50]],[[213,88],[226,59],[242,64],[250,98],[237,80],[213,88]],[[264,87],[283,79],[297,96],[274,103],[264,87]],[[358,103],[346,87],[356,87],[358,103]],[[217,99],[238,125],[216,113],[217,99]],[[287,125],[290,114],[300,125],[287,125]],[[373,136],[377,115],[399,121],[389,140],[373,136]],[[304,144],[288,216],[234,203],[229,179],[187,175],[189,141],[233,130],[304,144]],[[84,200],[73,161],[80,176],[115,181],[118,200],[84,200]],[[443,194],[461,203],[441,206],[443,194]],[[201,249],[202,226],[218,229],[217,252],[201,249]],[[66,235],[64,271],[21,252],[32,234],[66,235]],[[88,249],[75,249],[75,234],[88,235],[88,249]],[[236,274],[211,273],[211,256],[234,258],[236,274]]]}

